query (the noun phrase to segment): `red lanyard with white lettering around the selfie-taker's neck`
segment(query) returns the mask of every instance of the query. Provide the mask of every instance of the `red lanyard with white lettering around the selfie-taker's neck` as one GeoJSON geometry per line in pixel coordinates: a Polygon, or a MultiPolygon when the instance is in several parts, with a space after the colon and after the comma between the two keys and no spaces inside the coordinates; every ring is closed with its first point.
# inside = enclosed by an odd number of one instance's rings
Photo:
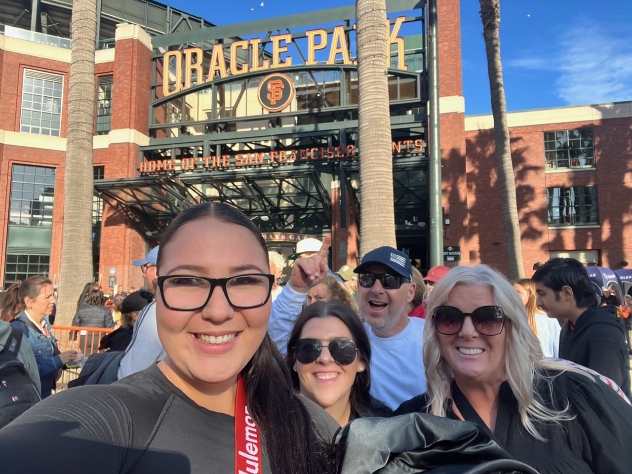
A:
{"type": "Polygon", "coordinates": [[[259,429],[248,413],[246,387],[243,377],[239,374],[235,398],[235,473],[261,473],[262,456],[259,429]]]}

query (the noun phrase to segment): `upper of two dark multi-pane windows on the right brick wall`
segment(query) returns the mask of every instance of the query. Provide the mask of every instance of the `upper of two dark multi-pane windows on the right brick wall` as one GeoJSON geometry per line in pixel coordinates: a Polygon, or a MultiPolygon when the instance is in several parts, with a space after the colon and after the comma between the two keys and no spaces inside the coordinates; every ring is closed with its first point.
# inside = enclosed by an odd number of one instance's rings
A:
{"type": "Polygon", "coordinates": [[[592,128],[544,132],[547,169],[595,167],[592,128]]]}

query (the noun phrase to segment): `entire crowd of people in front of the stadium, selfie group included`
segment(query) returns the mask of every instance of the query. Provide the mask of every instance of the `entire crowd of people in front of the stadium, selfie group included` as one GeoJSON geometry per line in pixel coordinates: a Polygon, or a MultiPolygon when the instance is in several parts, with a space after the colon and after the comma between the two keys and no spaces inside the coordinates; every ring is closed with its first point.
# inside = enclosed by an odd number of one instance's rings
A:
{"type": "MultiPolygon", "coordinates": [[[[330,244],[297,246],[283,284],[283,257],[243,213],[186,209],[134,262],[147,293],[117,304],[84,386],[54,396],[78,354],[55,354],[52,285],[9,290],[2,317],[27,336],[20,360],[46,399],[0,429],[3,472],[632,470],[629,303],[600,306],[579,262],[516,282],[485,265],[423,277],[383,246],[334,273],[330,244]]],[[[84,293],[75,322],[106,324],[100,290],[84,293]]]]}

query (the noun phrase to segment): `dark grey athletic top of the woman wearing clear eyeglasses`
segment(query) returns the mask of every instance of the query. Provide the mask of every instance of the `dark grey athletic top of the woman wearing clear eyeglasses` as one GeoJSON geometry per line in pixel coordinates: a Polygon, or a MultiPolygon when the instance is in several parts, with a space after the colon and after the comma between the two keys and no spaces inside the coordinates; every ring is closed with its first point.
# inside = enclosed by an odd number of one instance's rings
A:
{"type": "MultiPolygon", "coordinates": [[[[331,441],[338,424],[301,400],[331,441]]],[[[0,430],[0,466],[3,474],[234,474],[234,417],[194,403],[153,365],[38,403],[0,430]]]]}

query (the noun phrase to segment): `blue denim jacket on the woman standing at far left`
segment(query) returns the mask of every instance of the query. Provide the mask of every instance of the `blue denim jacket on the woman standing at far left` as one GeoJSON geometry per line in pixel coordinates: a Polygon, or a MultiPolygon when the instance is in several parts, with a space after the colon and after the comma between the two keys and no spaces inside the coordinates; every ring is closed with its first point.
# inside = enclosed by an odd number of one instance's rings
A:
{"type": "MultiPolygon", "coordinates": [[[[17,316],[18,318],[28,319],[27,313],[21,312],[17,316]]],[[[51,394],[53,387],[55,386],[55,379],[59,370],[64,366],[59,356],[54,355],[54,348],[57,347],[57,339],[51,335],[51,339],[44,336],[43,332],[35,331],[21,321],[13,320],[12,325],[19,327],[23,334],[27,336],[28,343],[31,344],[33,353],[35,353],[35,360],[37,361],[37,370],[40,374],[40,381],[42,382],[42,399],[51,394]]],[[[51,325],[46,321],[46,329],[49,334],[52,334],[51,325]]]]}

